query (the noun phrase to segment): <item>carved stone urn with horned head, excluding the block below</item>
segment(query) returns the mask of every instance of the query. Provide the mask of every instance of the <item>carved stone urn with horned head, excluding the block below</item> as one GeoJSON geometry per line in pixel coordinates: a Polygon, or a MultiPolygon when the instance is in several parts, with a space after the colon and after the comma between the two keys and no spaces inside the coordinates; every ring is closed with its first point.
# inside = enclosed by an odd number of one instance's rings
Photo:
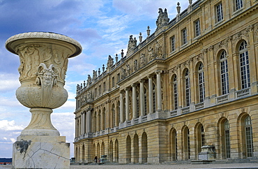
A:
{"type": "Polygon", "coordinates": [[[55,130],[37,134],[59,135],[50,121],[52,109],[59,108],[68,98],[65,84],[68,58],[82,51],[81,45],[68,36],[47,32],[17,34],[8,38],[6,48],[20,57],[21,86],[16,97],[31,108],[31,123],[26,130],[55,130]],[[40,120],[38,120],[40,119],[40,120]],[[53,133],[54,132],[54,133],[53,133]]]}

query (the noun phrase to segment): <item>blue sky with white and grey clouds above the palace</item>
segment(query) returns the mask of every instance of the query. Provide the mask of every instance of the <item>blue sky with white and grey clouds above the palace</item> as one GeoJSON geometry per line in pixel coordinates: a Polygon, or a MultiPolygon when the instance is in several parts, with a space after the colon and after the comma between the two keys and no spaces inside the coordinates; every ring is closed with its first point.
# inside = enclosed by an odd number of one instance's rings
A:
{"type": "MultiPolygon", "coordinates": [[[[10,158],[13,142],[31,119],[29,108],[17,101],[15,91],[20,87],[17,68],[19,57],[6,50],[10,36],[30,31],[50,31],[74,38],[82,45],[82,53],[69,59],[65,89],[68,101],[53,110],[52,124],[66,142],[70,142],[73,157],[75,137],[76,86],[93,70],[102,71],[107,58],[121,50],[126,54],[129,36],[146,38],[149,26],[155,31],[158,8],[167,8],[168,17],[176,17],[176,3],[181,12],[188,0],[0,0],[0,158],[10,158]]],[[[193,1],[195,2],[195,1],[193,1]]]]}

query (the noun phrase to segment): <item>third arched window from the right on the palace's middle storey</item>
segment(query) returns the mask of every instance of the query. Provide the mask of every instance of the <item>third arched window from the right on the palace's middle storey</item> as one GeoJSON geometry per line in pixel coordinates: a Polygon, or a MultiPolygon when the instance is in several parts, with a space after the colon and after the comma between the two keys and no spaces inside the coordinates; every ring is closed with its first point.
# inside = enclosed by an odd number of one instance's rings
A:
{"type": "Polygon", "coordinates": [[[198,80],[199,80],[199,102],[204,102],[205,88],[204,88],[204,64],[199,64],[198,67],[198,80]]]}

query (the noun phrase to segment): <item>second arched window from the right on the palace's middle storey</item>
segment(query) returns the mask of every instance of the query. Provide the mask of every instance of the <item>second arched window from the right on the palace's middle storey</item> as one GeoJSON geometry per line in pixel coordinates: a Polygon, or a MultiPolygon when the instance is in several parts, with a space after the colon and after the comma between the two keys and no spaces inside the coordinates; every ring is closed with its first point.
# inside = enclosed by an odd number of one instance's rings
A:
{"type": "Polygon", "coordinates": [[[220,54],[220,79],[222,95],[229,93],[229,72],[227,68],[227,53],[223,50],[220,54]]]}

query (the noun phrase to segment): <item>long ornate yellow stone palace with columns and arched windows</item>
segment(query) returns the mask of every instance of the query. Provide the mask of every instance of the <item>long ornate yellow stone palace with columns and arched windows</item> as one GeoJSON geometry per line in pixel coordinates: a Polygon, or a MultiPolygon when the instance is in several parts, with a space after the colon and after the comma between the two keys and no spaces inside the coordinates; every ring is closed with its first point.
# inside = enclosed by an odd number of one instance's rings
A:
{"type": "Polygon", "coordinates": [[[75,158],[162,163],[258,158],[258,1],[189,1],[77,85],[75,158]]]}

